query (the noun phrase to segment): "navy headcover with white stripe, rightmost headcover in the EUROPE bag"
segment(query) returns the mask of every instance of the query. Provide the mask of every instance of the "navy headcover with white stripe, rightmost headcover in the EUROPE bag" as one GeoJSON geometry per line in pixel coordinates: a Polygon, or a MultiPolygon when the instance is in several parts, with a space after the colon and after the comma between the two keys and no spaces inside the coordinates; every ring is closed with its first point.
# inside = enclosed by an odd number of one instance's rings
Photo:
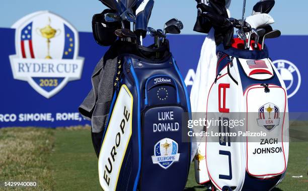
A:
{"type": "Polygon", "coordinates": [[[154,5],[153,0],[138,0],[137,9],[136,9],[136,27],[135,30],[138,35],[141,35],[143,38],[146,35],[146,28],[148,20],[151,16],[152,8],[154,5]]]}

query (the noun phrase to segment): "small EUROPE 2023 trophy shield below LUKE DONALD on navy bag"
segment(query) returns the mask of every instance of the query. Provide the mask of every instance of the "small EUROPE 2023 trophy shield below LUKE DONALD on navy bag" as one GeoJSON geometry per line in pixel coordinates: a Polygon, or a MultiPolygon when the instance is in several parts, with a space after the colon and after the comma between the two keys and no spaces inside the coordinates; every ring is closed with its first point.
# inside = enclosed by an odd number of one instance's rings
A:
{"type": "Polygon", "coordinates": [[[153,164],[159,164],[167,169],[173,162],[179,161],[178,143],[172,139],[164,138],[154,146],[153,164]]]}

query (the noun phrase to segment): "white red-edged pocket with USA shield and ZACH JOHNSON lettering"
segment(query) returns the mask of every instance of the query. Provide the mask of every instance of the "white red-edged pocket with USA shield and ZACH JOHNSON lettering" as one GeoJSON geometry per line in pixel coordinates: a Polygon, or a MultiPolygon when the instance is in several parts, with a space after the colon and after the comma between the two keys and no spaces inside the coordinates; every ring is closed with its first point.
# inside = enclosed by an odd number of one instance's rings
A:
{"type": "Polygon", "coordinates": [[[277,85],[268,85],[268,89],[253,85],[244,94],[247,132],[266,134],[260,138],[247,136],[246,170],[259,178],[279,175],[286,169],[283,145],[286,92],[277,85]]]}

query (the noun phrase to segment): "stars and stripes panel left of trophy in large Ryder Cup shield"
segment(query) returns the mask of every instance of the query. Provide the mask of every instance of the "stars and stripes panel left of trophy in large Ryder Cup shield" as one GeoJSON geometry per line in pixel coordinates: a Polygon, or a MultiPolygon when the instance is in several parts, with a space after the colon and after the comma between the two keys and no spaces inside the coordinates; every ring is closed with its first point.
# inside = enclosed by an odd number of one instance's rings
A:
{"type": "Polygon", "coordinates": [[[32,22],[22,29],[20,38],[23,58],[34,58],[32,46],[32,22]]]}

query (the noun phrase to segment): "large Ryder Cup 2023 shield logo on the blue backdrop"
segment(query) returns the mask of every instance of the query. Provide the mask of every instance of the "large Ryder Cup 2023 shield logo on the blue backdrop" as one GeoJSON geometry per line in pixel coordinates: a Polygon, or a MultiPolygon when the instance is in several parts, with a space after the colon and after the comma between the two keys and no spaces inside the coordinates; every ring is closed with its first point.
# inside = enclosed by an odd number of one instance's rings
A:
{"type": "Polygon", "coordinates": [[[16,54],[10,55],[14,79],[28,83],[50,98],[68,81],[81,78],[84,58],[78,57],[78,32],[48,11],[32,13],[16,22],[16,54]]]}

